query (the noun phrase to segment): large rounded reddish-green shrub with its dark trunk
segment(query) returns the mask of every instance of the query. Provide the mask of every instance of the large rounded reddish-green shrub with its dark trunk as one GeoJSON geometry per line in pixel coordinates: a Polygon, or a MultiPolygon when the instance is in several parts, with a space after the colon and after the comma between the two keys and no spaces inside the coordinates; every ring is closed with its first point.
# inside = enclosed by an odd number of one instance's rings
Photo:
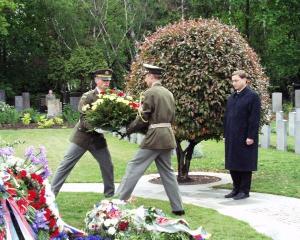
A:
{"type": "Polygon", "coordinates": [[[176,100],[176,138],[179,175],[187,176],[194,146],[205,139],[221,139],[226,99],[232,91],[231,74],[246,70],[262,100],[261,123],[267,122],[268,78],[259,58],[237,29],[218,20],[180,21],[158,29],[139,47],[132,63],[127,89],[145,90],[143,63],[165,69],[162,83],[176,100]],[[187,162],[184,162],[187,160],[187,162]]]}

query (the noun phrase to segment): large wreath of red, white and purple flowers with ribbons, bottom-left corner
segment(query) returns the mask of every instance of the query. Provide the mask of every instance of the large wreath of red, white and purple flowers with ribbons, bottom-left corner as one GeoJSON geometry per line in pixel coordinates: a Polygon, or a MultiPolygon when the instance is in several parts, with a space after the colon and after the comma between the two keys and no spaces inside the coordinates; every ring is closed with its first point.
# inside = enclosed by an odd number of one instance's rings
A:
{"type": "Polygon", "coordinates": [[[16,225],[30,240],[83,236],[59,217],[45,148],[29,147],[24,159],[13,154],[13,147],[0,147],[0,240],[18,239],[16,225]]]}

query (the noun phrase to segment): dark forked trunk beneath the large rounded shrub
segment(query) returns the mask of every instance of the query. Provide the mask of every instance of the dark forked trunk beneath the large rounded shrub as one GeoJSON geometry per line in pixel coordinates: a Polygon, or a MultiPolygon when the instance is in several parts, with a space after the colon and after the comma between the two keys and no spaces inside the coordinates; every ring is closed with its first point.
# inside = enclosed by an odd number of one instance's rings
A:
{"type": "Polygon", "coordinates": [[[191,160],[194,152],[195,146],[200,141],[189,140],[189,145],[186,149],[182,149],[180,143],[181,141],[177,140],[177,147],[176,147],[176,155],[177,155],[177,163],[178,163],[178,182],[187,182],[190,180],[189,178],[189,171],[191,160]]]}

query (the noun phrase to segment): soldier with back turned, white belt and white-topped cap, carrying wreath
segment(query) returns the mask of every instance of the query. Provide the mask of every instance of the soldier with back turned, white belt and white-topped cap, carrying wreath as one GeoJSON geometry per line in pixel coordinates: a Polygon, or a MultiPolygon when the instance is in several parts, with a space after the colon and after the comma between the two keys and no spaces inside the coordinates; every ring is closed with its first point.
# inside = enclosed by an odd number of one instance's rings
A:
{"type": "Polygon", "coordinates": [[[171,203],[172,212],[183,215],[181,196],[176,176],[171,166],[171,155],[176,147],[171,123],[175,121],[175,101],[173,94],[160,82],[162,69],[144,64],[147,70],[145,82],[149,89],[144,92],[144,99],[137,118],[129,125],[126,135],[144,131],[145,138],[135,157],[128,163],[126,174],[117,190],[121,200],[128,200],[138,180],[149,165],[155,161],[165,191],[171,203]]]}

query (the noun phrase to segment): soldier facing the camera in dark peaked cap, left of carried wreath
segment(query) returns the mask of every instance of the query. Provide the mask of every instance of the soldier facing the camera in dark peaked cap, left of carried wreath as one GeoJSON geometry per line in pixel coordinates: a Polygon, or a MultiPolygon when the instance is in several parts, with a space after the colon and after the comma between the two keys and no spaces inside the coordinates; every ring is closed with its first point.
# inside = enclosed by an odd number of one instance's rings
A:
{"type": "Polygon", "coordinates": [[[109,87],[112,71],[110,69],[101,69],[95,71],[93,75],[97,86],[94,90],[84,93],[80,99],[78,105],[80,119],[70,138],[71,144],[69,149],[56,170],[51,183],[51,188],[55,195],[58,194],[71,170],[86,151],[93,155],[100,166],[105,197],[114,195],[114,168],[106,139],[102,133],[89,129],[88,124],[84,120],[84,112],[82,110],[84,105],[95,102],[98,98],[97,95],[109,87]]]}

